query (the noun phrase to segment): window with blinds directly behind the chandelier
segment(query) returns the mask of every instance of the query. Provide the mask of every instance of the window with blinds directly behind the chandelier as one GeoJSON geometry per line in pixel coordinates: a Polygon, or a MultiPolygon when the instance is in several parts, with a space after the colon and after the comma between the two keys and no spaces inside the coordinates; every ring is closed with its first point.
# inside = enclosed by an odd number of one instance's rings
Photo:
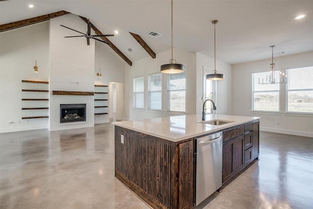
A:
{"type": "MultiPolygon", "coordinates": [[[[252,111],[279,112],[280,84],[262,84],[266,83],[268,74],[252,73],[252,111]]],[[[279,75],[279,71],[274,71],[275,78],[279,78],[279,75]]]]}

